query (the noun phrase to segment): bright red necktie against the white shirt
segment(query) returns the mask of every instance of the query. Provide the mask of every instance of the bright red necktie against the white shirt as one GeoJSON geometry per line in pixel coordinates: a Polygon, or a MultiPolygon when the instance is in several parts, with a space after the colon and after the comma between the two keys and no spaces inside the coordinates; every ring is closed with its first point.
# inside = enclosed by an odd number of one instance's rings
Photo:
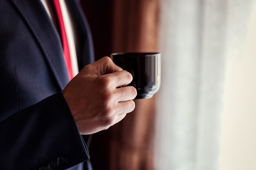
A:
{"type": "Polygon", "coordinates": [[[71,58],[70,58],[70,49],[67,41],[67,34],[66,34],[65,25],[64,25],[64,20],[61,13],[61,5],[59,0],[53,0],[53,2],[54,2],[57,16],[58,16],[59,26],[61,29],[63,53],[64,53],[64,58],[67,66],[67,71],[68,71],[69,78],[72,79],[73,72],[72,72],[72,64],[71,64],[71,58]]]}

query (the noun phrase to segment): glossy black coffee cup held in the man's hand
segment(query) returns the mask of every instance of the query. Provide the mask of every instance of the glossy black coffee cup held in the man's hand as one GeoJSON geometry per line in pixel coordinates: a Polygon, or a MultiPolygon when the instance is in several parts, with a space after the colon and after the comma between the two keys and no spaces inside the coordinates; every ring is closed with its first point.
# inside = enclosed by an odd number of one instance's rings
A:
{"type": "Polygon", "coordinates": [[[132,74],[133,86],[137,90],[135,99],[148,99],[160,87],[161,81],[160,53],[112,53],[112,61],[132,74]]]}

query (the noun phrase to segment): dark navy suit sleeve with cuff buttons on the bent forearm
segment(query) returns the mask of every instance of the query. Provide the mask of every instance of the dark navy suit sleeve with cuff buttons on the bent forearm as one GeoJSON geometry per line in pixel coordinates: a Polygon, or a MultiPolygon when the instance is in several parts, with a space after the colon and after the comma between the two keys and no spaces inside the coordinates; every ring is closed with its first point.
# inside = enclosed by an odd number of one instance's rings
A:
{"type": "Polygon", "coordinates": [[[65,170],[88,159],[62,93],[0,122],[0,170],[65,170]]]}

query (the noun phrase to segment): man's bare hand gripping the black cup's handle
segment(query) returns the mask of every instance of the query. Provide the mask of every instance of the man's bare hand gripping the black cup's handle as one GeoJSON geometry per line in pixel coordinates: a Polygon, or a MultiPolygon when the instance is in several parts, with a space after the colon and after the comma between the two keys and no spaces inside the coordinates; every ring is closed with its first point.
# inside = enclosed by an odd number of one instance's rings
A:
{"type": "Polygon", "coordinates": [[[132,75],[109,57],[85,66],[64,88],[62,94],[80,134],[88,135],[116,124],[135,108],[137,91],[124,86],[132,75]]]}

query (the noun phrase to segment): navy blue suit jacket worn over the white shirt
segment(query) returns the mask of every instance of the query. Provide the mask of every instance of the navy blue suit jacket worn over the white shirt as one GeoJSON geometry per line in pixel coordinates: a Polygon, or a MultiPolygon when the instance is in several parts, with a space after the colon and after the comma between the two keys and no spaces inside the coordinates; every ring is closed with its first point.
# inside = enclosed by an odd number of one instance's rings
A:
{"type": "MultiPolygon", "coordinates": [[[[79,69],[93,61],[88,24],[66,0],[79,69]]],[[[59,157],[70,168],[89,159],[61,94],[69,82],[60,37],[40,0],[0,0],[0,170],[38,170],[59,157]]]]}

